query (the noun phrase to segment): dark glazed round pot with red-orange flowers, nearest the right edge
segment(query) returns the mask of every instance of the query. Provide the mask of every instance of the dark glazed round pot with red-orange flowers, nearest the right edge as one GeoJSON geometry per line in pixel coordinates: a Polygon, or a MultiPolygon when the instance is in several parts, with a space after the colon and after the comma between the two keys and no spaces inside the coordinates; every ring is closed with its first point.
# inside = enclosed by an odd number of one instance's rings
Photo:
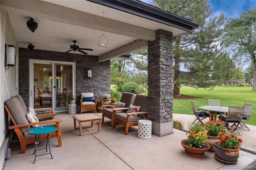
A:
{"type": "Polygon", "coordinates": [[[214,142],[214,157],[225,164],[238,162],[240,145],[243,140],[238,138],[233,131],[226,132],[224,130],[219,133],[218,139],[220,141],[214,142]]]}

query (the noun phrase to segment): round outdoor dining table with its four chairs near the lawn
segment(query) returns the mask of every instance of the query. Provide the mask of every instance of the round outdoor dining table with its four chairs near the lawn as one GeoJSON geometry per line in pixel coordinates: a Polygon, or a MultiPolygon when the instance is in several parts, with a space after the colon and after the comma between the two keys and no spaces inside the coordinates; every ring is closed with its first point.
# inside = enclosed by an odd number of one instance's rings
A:
{"type": "Polygon", "coordinates": [[[209,118],[209,120],[216,120],[217,115],[219,115],[218,119],[224,121],[226,123],[226,127],[228,127],[228,123],[232,123],[231,127],[235,126],[234,131],[237,130],[239,135],[241,135],[239,129],[242,127],[246,127],[248,131],[250,131],[248,126],[246,126],[246,122],[252,114],[253,104],[245,103],[244,106],[222,107],[220,106],[220,100],[209,99],[208,106],[199,106],[198,109],[195,108],[194,101],[191,100],[191,107],[194,115],[196,116],[193,123],[198,120],[204,125],[202,120],[206,118],[209,118]],[[209,111],[209,113],[206,111],[209,111]]]}

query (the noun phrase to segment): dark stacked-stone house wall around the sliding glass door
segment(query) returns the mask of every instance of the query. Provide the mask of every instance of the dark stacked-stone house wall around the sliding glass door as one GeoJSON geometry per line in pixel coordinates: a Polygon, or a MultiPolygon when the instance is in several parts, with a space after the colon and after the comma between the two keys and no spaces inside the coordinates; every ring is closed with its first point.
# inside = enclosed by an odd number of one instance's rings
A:
{"type": "Polygon", "coordinates": [[[19,94],[29,105],[29,59],[47,61],[76,61],[76,103],[80,105],[80,92],[94,92],[95,98],[110,94],[110,61],[98,62],[97,56],[19,49],[19,94]],[[92,78],[87,78],[87,70],[92,70],[92,78]],[[106,88],[108,90],[106,90],[106,88]]]}

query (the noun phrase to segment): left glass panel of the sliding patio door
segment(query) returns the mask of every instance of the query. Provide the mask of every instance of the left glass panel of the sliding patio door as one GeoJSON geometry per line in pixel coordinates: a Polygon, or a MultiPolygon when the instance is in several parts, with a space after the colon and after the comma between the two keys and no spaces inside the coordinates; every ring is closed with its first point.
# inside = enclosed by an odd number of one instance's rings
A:
{"type": "Polygon", "coordinates": [[[52,107],[52,64],[34,63],[34,108],[52,107]]]}

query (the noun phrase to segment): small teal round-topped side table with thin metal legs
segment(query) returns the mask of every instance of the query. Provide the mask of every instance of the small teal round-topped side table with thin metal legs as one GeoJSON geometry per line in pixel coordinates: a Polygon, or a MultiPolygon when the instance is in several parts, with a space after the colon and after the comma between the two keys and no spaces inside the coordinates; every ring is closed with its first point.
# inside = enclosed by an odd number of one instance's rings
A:
{"type": "MultiPolygon", "coordinates": [[[[34,150],[34,153],[35,154],[35,158],[34,158],[34,163],[36,162],[36,157],[37,156],[42,156],[42,155],[45,155],[45,154],[51,154],[52,156],[52,152],[51,152],[51,148],[50,148],[50,137],[49,137],[49,134],[50,133],[53,133],[53,132],[56,132],[57,131],[57,127],[52,127],[52,126],[45,126],[45,127],[36,127],[36,128],[33,128],[33,129],[30,129],[28,131],[28,134],[29,135],[35,135],[35,150],[34,150]],[[47,135],[47,142],[46,142],[46,147],[43,148],[43,149],[46,149],[46,152],[48,152],[47,150],[47,145],[49,144],[49,152],[48,153],[44,153],[44,154],[37,154],[37,150],[42,150],[42,149],[37,149],[37,145],[40,141],[40,135],[47,135]]],[[[52,157],[53,159],[53,157],[52,157]]]]}

